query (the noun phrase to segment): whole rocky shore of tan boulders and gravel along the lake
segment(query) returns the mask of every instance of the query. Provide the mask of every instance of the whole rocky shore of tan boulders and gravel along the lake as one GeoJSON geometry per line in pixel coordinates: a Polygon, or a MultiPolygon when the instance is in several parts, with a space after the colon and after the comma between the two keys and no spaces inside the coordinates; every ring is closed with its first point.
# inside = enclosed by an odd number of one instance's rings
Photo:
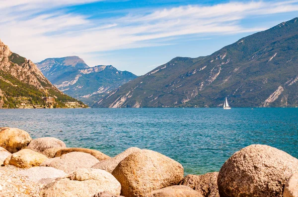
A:
{"type": "Polygon", "coordinates": [[[115,157],[0,128],[0,197],[298,197],[298,159],[266,145],[235,152],[219,172],[184,177],[158,152],[115,157]]]}

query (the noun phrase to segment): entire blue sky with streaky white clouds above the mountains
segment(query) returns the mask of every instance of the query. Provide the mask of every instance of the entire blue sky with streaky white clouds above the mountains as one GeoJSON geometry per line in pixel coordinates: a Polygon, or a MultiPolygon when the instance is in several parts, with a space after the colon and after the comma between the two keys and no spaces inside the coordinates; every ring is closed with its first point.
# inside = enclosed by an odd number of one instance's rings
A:
{"type": "Polygon", "coordinates": [[[0,39],[39,62],[79,56],[143,75],[298,17],[298,0],[0,0],[0,39]]]}

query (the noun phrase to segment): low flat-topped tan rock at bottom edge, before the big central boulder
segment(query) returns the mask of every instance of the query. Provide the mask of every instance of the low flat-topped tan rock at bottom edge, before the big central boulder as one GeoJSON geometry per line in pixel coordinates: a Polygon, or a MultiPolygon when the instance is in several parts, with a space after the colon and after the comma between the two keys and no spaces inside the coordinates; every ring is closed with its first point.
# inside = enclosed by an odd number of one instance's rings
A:
{"type": "Polygon", "coordinates": [[[148,195],[149,197],[203,197],[201,193],[188,186],[171,186],[155,190],[148,195]]]}

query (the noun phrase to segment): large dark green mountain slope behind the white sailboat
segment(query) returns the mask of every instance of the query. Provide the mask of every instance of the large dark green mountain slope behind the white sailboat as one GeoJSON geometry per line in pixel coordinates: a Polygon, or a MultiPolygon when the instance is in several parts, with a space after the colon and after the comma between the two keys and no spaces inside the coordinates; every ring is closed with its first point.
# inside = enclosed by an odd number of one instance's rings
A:
{"type": "Polygon", "coordinates": [[[176,57],[97,107],[298,106],[298,18],[198,58],[176,57]]]}

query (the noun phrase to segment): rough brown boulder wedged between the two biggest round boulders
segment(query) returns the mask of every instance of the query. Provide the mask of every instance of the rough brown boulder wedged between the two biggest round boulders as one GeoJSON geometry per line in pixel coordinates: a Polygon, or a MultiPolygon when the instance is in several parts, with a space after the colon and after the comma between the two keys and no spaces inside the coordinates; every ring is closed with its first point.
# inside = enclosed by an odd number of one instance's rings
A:
{"type": "Polygon", "coordinates": [[[204,197],[220,197],[217,185],[218,172],[211,172],[204,175],[187,175],[180,182],[180,185],[188,186],[204,197]]]}

